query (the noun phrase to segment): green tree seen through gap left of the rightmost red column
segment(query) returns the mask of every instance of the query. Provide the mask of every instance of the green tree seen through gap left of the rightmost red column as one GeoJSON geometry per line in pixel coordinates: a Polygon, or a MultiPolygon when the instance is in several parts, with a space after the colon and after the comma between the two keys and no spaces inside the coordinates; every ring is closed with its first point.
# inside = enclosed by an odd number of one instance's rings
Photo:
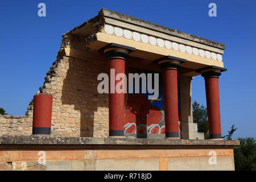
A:
{"type": "Polygon", "coordinates": [[[192,108],[193,122],[197,123],[198,132],[204,133],[204,138],[209,139],[207,109],[196,101],[193,102],[192,108]]]}

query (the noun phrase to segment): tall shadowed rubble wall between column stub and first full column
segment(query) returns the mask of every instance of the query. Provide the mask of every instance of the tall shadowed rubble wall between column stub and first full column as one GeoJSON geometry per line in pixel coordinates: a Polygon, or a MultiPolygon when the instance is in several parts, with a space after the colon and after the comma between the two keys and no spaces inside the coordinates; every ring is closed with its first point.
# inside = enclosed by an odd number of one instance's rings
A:
{"type": "Polygon", "coordinates": [[[63,57],[57,60],[40,88],[53,95],[52,135],[62,137],[106,137],[108,94],[98,94],[97,76],[107,62],[63,57]]]}

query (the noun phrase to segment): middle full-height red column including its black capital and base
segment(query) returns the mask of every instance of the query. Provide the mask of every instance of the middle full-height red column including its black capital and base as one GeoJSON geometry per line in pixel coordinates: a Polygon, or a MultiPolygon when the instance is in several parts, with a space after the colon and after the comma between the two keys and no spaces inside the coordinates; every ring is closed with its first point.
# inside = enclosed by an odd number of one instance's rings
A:
{"type": "Polygon", "coordinates": [[[163,94],[164,94],[164,119],[166,127],[166,138],[179,138],[179,108],[177,70],[181,63],[187,60],[178,57],[166,56],[155,62],[162,69],[163,94]]]}

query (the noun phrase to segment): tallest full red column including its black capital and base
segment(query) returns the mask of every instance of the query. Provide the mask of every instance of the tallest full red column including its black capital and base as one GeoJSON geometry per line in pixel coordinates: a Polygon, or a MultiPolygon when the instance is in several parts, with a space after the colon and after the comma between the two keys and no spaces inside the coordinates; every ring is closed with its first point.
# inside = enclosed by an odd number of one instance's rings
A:
{"type": "Polygon", "coordinates": [[[115,43],[98,50],[104,53],[109,61],[109,137],[124,137],[125,93],[117,93],[115,90],[115,86],[121,81],[115,80],[115,76],[119,73],[125,74],[126,57],[134,50],[133,47],[115,43]],[[111,71],[114,72],[114,78],[111,77],[111,71]]]}

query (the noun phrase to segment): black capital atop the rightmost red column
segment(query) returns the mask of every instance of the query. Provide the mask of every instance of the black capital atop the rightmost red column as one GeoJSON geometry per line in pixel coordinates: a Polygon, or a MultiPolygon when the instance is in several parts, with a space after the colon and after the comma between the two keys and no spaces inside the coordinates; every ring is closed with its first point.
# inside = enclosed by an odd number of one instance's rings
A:
{"type": "Polygon", "coordinates": [[[226,68],[216,67],[214,65],[196,70],[196,72],[201,73],[201,76],[203,76],[204,78],[208,78],[208,77],[218,78],[221,75],[221,72],[225,72],[225,71],[227,71],[226,68]]]}

